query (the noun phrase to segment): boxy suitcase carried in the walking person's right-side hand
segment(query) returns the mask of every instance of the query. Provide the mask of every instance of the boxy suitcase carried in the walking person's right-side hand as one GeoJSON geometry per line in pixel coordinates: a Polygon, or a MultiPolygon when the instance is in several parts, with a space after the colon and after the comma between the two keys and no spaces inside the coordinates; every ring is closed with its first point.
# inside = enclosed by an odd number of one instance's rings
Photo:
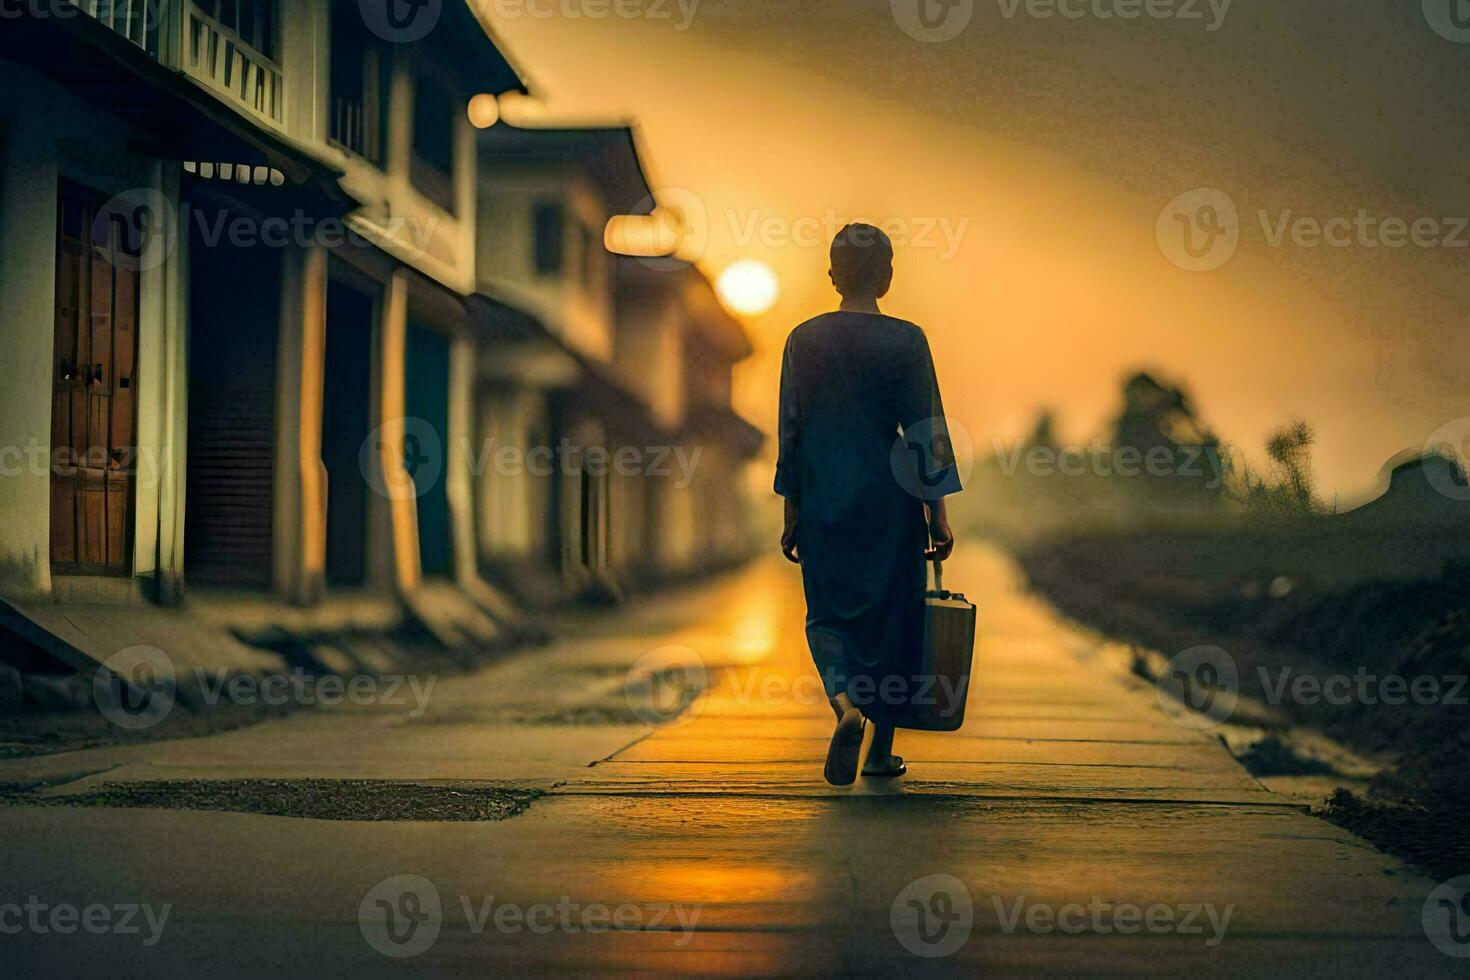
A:
{"type": "Polygon", "coordinates": [[[975,604],[944,588],[944,569],[933,563],[933,588],[923,595],[923,654],[919,689],[901,726],[919,732],[956,732],[964,724],[975,658],[975,604]],[[929,691],[923,691],[923,688],[929,691]]]}

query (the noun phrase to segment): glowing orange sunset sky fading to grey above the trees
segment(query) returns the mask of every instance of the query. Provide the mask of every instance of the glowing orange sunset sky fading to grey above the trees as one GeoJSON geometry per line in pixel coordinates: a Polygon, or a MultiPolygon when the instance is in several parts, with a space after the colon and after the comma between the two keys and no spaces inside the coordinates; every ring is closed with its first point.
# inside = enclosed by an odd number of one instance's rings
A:
{"type": "Polygon", "coordinates": [[[1310,420],[1323,489],[1351,502],[1391,454],[1470,414],[1470,247],[1273,245],[1258,215],[1470,215],[1449,81],[1470,44],[1419,3],[1236,0],[1207,31],[975,0],[958,37],[920,43],[888,0],[625,0],[634,18],[538,1],[554,16],[506,0],[488,19],[550,113],[637,118],[654,184],[704,212],[701,266],[776,270],[782,298],[751,323],[761,353],[739,376],[761,425],[785,334],[835,303],[828,229],[853,219],[914,238],[885,309],[929,332],[978,451],[1042,404],[1091,438],[1122,375],[1148,366],[1251,454],[1310,420]],[[1155,234],[1195,187],[1242,219],[1211,272],[1172,264],[1155,234]]]}

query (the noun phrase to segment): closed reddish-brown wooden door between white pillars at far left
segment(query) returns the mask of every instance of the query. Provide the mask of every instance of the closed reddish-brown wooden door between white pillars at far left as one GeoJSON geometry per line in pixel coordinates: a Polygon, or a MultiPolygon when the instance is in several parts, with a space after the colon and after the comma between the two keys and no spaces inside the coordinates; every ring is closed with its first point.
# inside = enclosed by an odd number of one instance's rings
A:
{"type": "Polygon", "coordinates": [[[129,574],[137,475],[138,239],[65,185],[51,356],[51,572],[129,574]]]}

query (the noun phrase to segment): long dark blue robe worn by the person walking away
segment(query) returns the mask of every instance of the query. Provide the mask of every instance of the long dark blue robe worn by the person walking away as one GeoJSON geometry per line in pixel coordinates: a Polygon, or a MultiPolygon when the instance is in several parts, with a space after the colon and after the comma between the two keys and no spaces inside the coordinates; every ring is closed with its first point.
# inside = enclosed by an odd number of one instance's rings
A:
{"type": "Polygon", "coordinates": [[[910,696],[926,693],[914,677],[923,504],[960,491],[923,331],[878,313],[794,329],[779,430],[776,492],[797,504],[817,671],[829,696],[847,691],[866,716],[901,724],[910,696]]]}

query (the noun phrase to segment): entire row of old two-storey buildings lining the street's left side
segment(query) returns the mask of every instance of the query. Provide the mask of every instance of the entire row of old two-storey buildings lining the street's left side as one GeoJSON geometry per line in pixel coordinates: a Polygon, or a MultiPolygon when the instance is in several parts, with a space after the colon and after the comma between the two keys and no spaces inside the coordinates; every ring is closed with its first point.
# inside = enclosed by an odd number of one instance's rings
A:
{"type": "Polygon", "coordinates": [[[698,270],[607,250],[654,207],[631,131],[476,132],[472,100],[525,91],[491,26],[356,0],[0,22],[25,93],[0,107],[0,595],[368,599],[473,645],[512,598],[738,554],[701,508],[760,444],[729,411],[744,334],[698,270]]]}

